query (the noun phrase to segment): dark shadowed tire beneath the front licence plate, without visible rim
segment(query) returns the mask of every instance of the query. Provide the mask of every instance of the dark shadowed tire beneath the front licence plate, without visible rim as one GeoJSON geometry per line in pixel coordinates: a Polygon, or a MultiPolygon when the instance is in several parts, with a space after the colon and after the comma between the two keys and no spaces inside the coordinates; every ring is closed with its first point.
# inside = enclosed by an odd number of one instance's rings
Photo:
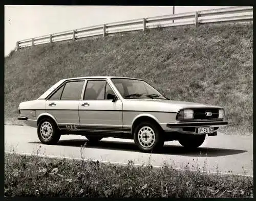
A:
{"type": "Polygon", "coordinates": [[[185,148],[193,149],[201,146],[204,143],[205,135],[189,135],[183,134],[179,139],[179,143],[185,148]]]}

